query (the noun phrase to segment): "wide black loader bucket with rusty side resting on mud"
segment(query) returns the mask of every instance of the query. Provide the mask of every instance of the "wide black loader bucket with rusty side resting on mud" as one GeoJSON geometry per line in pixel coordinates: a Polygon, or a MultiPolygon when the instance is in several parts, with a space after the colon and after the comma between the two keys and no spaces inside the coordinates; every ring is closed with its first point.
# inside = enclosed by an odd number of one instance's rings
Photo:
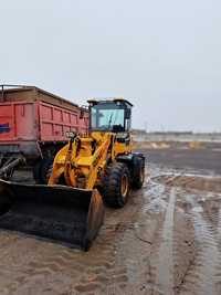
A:
{"type": "Polygon", "coordinates": [[[0,229],[88,250],[104,220],[97,190],[0,180],[0,229]]]}

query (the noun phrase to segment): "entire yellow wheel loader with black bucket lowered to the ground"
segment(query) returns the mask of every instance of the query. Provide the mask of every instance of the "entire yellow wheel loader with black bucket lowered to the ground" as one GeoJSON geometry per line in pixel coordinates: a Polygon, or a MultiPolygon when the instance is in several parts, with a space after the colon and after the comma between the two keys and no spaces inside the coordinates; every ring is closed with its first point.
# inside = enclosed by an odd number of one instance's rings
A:
{"type": "Polygon", "coordinates": [[[49,169],[49,183],[0,180],[0,229],[88,250],[104,220],[104,203],[122,208],[144,182],[145,158],[131,151],[133,105],[91,99],[90,133],[70,140],[49,169]]]}

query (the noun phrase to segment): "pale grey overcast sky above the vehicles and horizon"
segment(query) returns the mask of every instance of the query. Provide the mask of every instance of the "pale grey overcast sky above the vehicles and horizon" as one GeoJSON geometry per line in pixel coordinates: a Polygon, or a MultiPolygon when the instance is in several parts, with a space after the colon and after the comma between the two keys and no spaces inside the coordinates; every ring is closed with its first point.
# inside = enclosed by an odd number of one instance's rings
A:
{"type": "Polygon", "coordinates": [[[148,130],[221,130],[220,0],[0,0],[0,83],[124,96],[148,130]]]}

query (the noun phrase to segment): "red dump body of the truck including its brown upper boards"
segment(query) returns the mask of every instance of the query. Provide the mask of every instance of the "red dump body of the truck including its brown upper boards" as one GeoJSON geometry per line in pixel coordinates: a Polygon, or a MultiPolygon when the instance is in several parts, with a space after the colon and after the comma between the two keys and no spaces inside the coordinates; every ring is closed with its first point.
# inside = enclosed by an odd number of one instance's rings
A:
{"type": "Polygon", "coordinates": [[[0,92],[0,151],[21,149],[34,156],[36,143],[66,141],[66,131],[87,128],[87,110],[59,96],[36,87],[0,92]]]}

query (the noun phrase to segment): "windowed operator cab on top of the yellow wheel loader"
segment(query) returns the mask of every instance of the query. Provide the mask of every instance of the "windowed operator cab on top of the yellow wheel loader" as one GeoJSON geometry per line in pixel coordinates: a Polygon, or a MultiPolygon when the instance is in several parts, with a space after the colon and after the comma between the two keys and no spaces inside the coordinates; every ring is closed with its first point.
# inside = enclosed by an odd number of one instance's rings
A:
{"type": "Polygon", "coordinates": [[[133,105],[123,98],[112,101],[88,101],[90,130],[105,133],[128,133],[133,105]]]}

